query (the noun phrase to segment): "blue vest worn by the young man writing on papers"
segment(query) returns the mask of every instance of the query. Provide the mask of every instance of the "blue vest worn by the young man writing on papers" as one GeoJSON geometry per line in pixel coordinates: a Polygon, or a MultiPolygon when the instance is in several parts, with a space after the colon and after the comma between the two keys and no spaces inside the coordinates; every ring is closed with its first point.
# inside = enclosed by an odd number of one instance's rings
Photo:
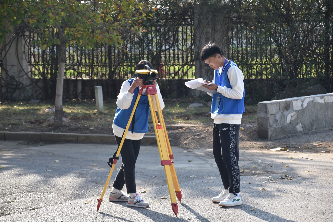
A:
{"type": "MultiPolygon", "coordinates": [[[[237,66],[237,65],[236,63],[229,61],[228,64],[226,64],[226,66],[224,67],[221,76],[219,75],[219,70],[215,70],[214,82],[216,85],[221,87],[226,86],[227,88],[232,89],[227,75],[227,72],[231,66],[237,66]]],[[[210,112],[214,114],[241,114],[245,112],[244,98],[245,98],[245,89],[243,92],[243,98],[240,100],[227,98],[220,93],[213,94],[213,100],[210,112]],[[216,106],[217,101],[218,105],[216,106]]]]}

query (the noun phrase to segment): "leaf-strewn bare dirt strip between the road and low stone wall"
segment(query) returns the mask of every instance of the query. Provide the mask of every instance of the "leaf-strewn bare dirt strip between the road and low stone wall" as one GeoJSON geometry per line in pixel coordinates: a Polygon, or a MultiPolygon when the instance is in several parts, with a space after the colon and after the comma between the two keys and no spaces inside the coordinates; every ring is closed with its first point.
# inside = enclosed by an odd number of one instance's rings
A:
{"type": "MultiPolygon", "coordinates": [[[[257,127],[253,124],[242,124],[239,132],[240,149],[265,149],[282,147],[290,152],[333,152],[333,130],[313,131],[295,134],[279,139],[261,139],[257,136],[257,127]]],[[[206,149],[213,147],[212,126],[192,126],[170,128],[168,137],[171,146],[187,149],[206,149]]],[[[151,133],[152,134],[152,133],[151,133]]]]}

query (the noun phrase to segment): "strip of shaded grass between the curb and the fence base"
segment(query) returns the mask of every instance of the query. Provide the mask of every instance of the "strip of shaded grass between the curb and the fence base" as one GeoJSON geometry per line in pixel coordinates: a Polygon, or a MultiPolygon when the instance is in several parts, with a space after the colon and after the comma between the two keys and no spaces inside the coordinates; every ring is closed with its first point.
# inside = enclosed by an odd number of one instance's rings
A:
{"type": "MultiPolygon", "coordinates": [[[[207,106],[189,108],[195,99],[165,99],[163,117],[167,125],[190,124],[212,126],[210,109],[207,106]]],[[[55,131],[77,133],[110,133],[112,121],[117,109],[116,100],[104,103],[104,113],[99,114],[94,101],[65,101],[63,109],[70,121],[63,122],[63,127],[56,129],[53,123],[46,121],[54,113],[46,113],[52,102],[28,104],[25,101],[0,103],[0,131],[55,131]]],[[[242,123],[256,123],[256,106],[246,106],[242,123]]],[[[150,117],[149,123],[152,124],[150,117]]]]}

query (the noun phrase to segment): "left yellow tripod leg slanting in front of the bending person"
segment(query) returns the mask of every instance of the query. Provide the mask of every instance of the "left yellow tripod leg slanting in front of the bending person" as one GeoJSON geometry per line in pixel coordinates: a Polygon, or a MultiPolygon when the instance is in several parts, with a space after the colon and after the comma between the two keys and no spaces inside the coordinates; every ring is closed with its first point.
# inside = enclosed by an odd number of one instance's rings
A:
{"type": "MultiPolygon", "coordinates": [[[[141,90],[139,91],[138,97],[137,97],[137,99],[136,99],[136,101],[135,101],[133,111],[132,111],[132,113],[131,113],[130,119],[128,120],[128,123],[127,123],[127,126],[126,126],[126,128],[125,128],[125,131],[124,131],[124,134],[123,134],[122,140],[121,140],[121,142],[120,142],[120,144],[119,144],[119,148],[118,148],[118,150],[117,150],[116,157],[119,156],[120,150],[121,150],[122,147],[123,147],[123,144],[124,144],[124,141],[125,141],[125,138],[126,138],[126,135],[127,135],[127,131],[128,131],[129,128],[130,128],[130,125],[131,125],[131,122],[132,122],[132,119],[133,119],[133,115],[134,115],[135,109],[137,108],[138,103],[139,103],[139,100],[140,100],[140,97],[141,97],[142,90],[143,90],[143,88],[141,88],[141,90]]],[[[108,187],[108,184],[109,184],[109,182],[110,182],[110,178],[111,178],[111,176],[112,176],[112,172],[113,172],[113,170],[114,170],[114,168],[115,168],[116,163],[117,163],[117,159],[115,159],[115,160],[113,161],[113,164],[112,164],[112,167],[111,167],[111,170],[110,170],[110,173],[109,173],[108,179],[107,179],[107,181],[106,181],[106,183],[105,183],[105,186],[104,186],[104,189],[103,189],[103,192],[102,192],[101,198],[100,198],[100,199],[97,199],[97,198],[96,198],[97,201],[98,201],[97,211],[99,210],[99,208],[100,208],[100,206],[101,206],[101,203],[102,203],[102,201],[103,201],[103,197],[104,197],[105,191],[106,191],[106,189],[107,189],[107,187],[108,187]]]]}

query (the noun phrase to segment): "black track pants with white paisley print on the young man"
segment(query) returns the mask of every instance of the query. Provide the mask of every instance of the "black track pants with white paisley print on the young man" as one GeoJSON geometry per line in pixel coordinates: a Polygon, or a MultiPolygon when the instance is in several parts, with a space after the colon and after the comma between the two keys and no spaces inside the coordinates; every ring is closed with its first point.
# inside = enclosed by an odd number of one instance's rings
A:
{"type": "Polygon", "coordinates": [[[224,189],[239,193],[238,136],[240,125],[214,123],[213,154],[224,189]]]}

